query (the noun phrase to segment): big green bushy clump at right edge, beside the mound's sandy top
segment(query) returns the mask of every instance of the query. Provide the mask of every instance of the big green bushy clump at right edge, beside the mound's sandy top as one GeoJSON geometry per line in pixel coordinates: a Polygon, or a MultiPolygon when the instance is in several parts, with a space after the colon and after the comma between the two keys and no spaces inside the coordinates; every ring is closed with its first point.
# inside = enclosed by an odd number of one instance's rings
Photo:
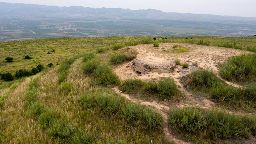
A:
{"type": "Polygon", "coordinates": [[[245,82],[256,76],[256,54],[233,56],[222,65],[220,74],[226,80],[245,82]]]}

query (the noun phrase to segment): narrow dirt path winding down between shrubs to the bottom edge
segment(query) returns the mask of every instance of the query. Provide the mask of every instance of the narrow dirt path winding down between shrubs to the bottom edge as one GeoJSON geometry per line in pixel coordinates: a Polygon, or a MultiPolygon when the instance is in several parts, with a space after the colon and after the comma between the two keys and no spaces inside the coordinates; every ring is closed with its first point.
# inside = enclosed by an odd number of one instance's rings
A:
{"type": "Polygon", "coordinates": [[[163,117],[163,122],[164,122],[164,134],[166,136],[166,138],[171,142],[171,141],[174,141],[175,143],[177,144],[190,144],[189,142],[184,142],[182,140],[179,140],[177,138],[175,138],[169,128],[168,128],[168,122],[167,122],[167,118],[168,118],[168,112],[169,112],[169,107],[168,106],[165,106],[163,104],[159,104],[158,102],[156,101],[152,101],[152,102],[148,102],[148,101],[145,101],[145,100],[138,100],[136,98],[133,98],[131,97],[130,95],[128,94],[124,94],[124,93],[121,93],[120,90],[118,89],[118,87],[114,87],[112,88],[112,90],[114,90],[114,92],[116,94],[120,94],[121,96],[124,96],[127,100],[130,100],[131,102],[136,102],[136,103],[139,103],[139,104],[143,104],[145,106],[148,106],[148,107],[151,107],[151,108],[154,108],[155,110],[157,110],[158,112],[160,112],[162,114],[162,117],[163,117]]]}

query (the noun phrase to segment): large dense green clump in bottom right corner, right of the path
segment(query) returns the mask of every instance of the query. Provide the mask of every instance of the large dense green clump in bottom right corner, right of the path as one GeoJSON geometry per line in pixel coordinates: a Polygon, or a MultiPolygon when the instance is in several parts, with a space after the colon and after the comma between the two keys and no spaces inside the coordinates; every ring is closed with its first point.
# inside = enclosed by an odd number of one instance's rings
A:
{"type": "Polygon", "coordinates": [[[255,116],[236,116],[226,111],[199,107],[171,108],[168,118],[170,128],[180,133],[210,138],[248,138],[255,135],[255,116]]]}

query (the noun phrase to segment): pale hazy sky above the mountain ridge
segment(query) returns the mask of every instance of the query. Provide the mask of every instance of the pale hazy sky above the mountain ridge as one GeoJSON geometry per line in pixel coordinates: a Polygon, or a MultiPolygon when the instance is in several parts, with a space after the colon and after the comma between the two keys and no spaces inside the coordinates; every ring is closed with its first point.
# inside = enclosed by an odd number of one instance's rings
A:
{"type": "Polygon", "coordinates": [[[163,12],[256,17],[256,0],[0,0],[1,2],[92,8],[156,9],[163,12]]]}

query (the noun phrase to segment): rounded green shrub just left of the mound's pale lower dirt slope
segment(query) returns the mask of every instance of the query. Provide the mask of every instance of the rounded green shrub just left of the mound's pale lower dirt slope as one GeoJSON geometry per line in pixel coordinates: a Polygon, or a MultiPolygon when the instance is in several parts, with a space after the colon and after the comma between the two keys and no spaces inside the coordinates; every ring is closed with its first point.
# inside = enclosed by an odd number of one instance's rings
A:
{"type": "Polygon", "coordinates": [[[98,66],[94,70],[94,76],[98,79],[99,84],[105,86],[118,85],[120,83],[118,76],[107,65],[98,66]]]}

